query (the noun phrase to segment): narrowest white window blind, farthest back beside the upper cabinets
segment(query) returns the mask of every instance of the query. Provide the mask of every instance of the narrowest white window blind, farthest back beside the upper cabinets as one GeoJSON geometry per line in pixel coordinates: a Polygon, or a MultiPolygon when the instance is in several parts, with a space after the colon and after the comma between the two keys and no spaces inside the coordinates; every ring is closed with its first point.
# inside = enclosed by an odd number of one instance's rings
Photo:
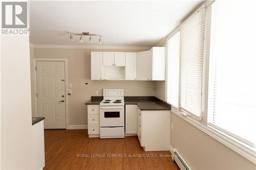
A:
{"type": "Polygon", "coordinates": [[[167,102],[178,108],[179,103],[179,65],[180,31],[168,39],[167,102]]]}

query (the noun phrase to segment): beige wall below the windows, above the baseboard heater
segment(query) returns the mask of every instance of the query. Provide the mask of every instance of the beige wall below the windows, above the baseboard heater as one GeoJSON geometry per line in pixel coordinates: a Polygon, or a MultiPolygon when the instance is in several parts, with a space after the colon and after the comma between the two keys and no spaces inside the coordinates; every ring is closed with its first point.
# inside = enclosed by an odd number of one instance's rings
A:
{"type": "Polygon", "coordinates": [[[256,165],[171,113],[170,145],[192,169],[256,169],[256,165]]]}

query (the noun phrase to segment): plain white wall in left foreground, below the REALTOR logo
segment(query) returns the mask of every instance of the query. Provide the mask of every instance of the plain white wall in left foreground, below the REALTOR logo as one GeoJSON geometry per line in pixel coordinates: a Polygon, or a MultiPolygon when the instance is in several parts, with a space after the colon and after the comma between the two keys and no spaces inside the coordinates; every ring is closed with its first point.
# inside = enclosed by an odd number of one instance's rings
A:
{"type": "Polygon", "coordinates": [[[28,36],[1,36],[1,169],[31,169],[28,36]]]}

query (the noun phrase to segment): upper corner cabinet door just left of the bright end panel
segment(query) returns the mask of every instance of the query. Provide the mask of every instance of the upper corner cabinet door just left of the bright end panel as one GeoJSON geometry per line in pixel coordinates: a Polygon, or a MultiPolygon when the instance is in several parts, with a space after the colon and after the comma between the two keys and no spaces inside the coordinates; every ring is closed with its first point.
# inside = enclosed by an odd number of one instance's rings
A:
{"type": "Polygon", "coordinates": [[[137,53],[137,80],[152,79],[151,51],[137,53]]]}

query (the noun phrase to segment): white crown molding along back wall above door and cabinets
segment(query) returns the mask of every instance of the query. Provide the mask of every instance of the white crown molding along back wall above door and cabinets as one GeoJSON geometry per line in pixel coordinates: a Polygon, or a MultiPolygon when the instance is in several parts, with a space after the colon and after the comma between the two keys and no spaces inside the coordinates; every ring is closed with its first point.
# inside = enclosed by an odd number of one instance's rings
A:
{"type": "Polygon", "coordinates": [[[101,46],[101,45],[40,45],[30,43],[33,48],[73,48],[73,49],[94,49],[94,50],[150,50],[150,46],[101,46]]]}

